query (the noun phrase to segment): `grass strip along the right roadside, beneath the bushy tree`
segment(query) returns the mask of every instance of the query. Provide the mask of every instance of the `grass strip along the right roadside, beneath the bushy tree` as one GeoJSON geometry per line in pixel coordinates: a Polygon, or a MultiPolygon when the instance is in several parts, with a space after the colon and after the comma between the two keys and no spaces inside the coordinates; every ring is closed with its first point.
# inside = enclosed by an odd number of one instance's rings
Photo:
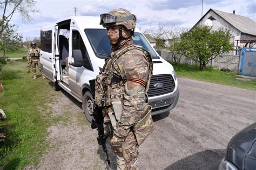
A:
{"type": "Polygon", "coordinates": [[[256,80],[242,81],[236,79],[238,77],[234,72],[223,72],[219,69],[212,67],[206,67],[205,71],[200,71],[199,66],[177,64],[172,63],[178,77],[186,77],[188,79],[196,79],[201,81],[207,81],[217,84],[223,84],[226,86],[233,86],[248,90],[256,90],[256,80]]]}

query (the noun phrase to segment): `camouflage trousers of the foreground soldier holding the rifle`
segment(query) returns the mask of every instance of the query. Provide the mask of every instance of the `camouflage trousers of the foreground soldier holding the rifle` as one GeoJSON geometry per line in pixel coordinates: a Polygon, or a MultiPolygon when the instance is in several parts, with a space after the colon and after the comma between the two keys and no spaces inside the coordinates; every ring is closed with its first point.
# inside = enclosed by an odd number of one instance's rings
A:
{"type": "MultiPolygon", "coordinates": [[[[111,122],[105,122],[106,131],[111,132],[111,122]]],[[[113,135],[110,134],[110,138],[113,135]]],[[[128,133],[123,144],[123,152],[116,154],[117,169],[138,169],[139,146],[132,131],[128,133]]]]}

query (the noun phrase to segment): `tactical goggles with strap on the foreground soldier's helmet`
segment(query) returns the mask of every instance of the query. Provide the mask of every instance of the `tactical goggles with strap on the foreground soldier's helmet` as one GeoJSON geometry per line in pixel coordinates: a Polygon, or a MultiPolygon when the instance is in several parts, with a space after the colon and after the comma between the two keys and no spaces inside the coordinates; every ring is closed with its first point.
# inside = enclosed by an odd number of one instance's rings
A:
{"type": "Polygon", "coordinates": [[[102,24],[111,24],[111,23],[116,23],[116,22],[125,22],[125,21],[131,20],[131,19],[136,20],[136,16],[131,14],[126,17],[116,17],[109,13],[103,13],[102,15],[100,15],[99,24],[102,25],[102,24]]]}

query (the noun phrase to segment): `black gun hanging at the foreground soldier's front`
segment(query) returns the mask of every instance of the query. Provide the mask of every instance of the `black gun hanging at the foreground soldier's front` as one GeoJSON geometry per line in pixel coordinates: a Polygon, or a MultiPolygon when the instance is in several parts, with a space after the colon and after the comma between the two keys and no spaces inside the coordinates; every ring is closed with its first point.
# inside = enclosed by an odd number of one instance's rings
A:
{"type": "MultiPolygon", "coordinates": [[[[90,82],[91,92],[92,92],[93,101],[94,101],[95,100],[95,79],[90,80],[89,82],[90,82]]],[[[106,139],[109,137],[109,134],[104,133],[103,123],[104,123],[104,115],[102,112],[102,108],[98,107],[98,105],[95,104],[95,102],[93,102],[93,119],[92,119],[91,128],[92,129],[97,128],[98,144],[102,145],[103,151],[106,153],[105,162],[107,162],[107,165],[110,165],[110,159],[109,159],[109,155],[107,154],[107,149],[106,149],[106,139]]]]}

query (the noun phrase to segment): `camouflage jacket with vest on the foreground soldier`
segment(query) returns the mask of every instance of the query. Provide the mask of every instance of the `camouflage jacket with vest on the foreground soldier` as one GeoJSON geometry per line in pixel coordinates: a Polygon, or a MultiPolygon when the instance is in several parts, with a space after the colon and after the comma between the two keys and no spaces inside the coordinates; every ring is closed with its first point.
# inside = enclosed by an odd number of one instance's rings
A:
{"type": "Polygon", "coordinates": [[[114,51],[105,61],[105,104],[111,105],[116,100],[122,103],[122,114],[116,128],[119,137],[127,136],[145,109],[152,66],[151,55],[134,44],[114,51]]]}

